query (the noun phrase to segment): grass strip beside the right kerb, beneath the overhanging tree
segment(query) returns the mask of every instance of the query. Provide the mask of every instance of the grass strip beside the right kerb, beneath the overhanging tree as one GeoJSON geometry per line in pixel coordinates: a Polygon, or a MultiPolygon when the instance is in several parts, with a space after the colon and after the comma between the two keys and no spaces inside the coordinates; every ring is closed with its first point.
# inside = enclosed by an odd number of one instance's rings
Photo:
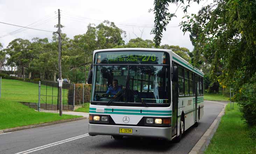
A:
{"type": "Polygon", "coordinates": [[[226,106],[226,113],[214,134],[205,154],[255,154],[256,139],[249,137],[250,129],[241,120],[237,104],[234,110],[226,106]]]}

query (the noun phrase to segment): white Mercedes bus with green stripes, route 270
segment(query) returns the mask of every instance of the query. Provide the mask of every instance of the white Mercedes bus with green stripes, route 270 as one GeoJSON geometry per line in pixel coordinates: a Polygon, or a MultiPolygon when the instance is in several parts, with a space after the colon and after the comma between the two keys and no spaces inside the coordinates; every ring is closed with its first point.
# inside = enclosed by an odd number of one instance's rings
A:
{"type": "Polygon", "coordinates": [[[204,73],[171,50],[95,50],[89,74],[91,136],[180,141],[204,114],[204,73]]]}

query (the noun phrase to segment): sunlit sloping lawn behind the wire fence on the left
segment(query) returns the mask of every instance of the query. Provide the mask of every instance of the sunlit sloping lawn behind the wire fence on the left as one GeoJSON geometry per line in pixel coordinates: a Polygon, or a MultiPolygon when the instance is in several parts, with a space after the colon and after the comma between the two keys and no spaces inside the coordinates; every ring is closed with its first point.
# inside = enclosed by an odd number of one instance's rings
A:
{"type": "MultiPolygon", "coordinates": [[[[41,85],[41,95],[58,96],[58,88],[41,85]]],[[[67,89],[63,89],[64,105],[67,104],[67,89]]],[[[1,98],[16,102],[38,102],[38,84],[19,80],[2,79],[1,98]]],[[[57,104],[57,97],[41,96],[41,103],[57,104]]]]}

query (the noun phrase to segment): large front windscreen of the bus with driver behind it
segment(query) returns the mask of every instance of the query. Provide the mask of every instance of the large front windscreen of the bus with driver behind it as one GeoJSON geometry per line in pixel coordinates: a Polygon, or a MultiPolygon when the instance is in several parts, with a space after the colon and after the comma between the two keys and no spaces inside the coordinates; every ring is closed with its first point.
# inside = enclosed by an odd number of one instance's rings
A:
{"type": "MultiPolygon", "coordinates": [[[[106,55],[107,53],[104,53],[105,57],[107,57],[106,55]]],[[[146,57],[144,60],[149,60],[144,61],[144,63],[142,63],[143,56],[141,58],[137,56],[136,59],[136,55],[133,54],[130,56],[133,57],[130,58],[131,61],[122,64],[124,63],[121,59],[123,53],[114,52],[111,55],[112,57],[119,56],[114,64],[109,64],[111,62],[109,58],[103,58],[105,59],[103,64],[101,60],[98,60],[98,62],[96,61],[98,65],[94,65],[92,103],[103,105],[111,102],[112,105],[126,104],[131,106],[154,104],[153,106],[156,107],[170,105],[170,89],[168,89],[170,87],[168,86],[170,84],[168,75],[170,71],[169,65],[165,64],[164,52],[148,53],[150,58],[146,57]],[[151,58],[152,56],[155,57],[151,58]],[[117,65],[118,62],[121,65],[117,65]],[[134,65],[134,63],[138,65],[134,65]],[[148,65],[147,63],[154,63],[155,65],[148,65]]],[[[99,59],[99,54],[96,54],[95,57],[99,59]]],[[[100,58],[102,58],[102,53],[100,58]]]]}

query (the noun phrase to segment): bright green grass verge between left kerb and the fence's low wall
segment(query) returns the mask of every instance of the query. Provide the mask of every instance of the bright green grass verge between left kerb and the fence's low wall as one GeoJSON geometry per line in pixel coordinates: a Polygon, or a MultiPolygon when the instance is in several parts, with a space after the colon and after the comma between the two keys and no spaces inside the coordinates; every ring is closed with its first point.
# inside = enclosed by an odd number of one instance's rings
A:
{"type": "Polygon", "coordinates": [[[82,116],[62,115],[56,113],[37,112],[21,103],[0,99],[0,130],[32,124],[72,119],[82,116]]]}

